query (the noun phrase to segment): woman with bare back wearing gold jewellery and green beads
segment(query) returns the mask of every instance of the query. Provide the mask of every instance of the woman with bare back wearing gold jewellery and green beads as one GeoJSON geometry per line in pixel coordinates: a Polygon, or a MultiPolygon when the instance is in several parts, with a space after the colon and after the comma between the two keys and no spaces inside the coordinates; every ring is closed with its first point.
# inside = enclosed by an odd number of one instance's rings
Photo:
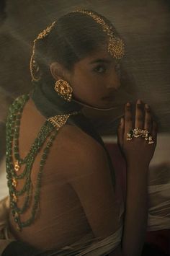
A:
{"type": "Polygon", "coordinates": [[[35,87],[14,101],[6,122],[10,209],[1,234],[20,242],[4,244],[3,256],[14,248],[14,255],[141,254],[156,147],[150,107],[138,100],[133,118],[128,102],[118,128],[128,169],[124,215],[109,154],[82,111],[114,107],[123,55],[115,28],[91,11],[66,14],[35,39],[35,87]]]}

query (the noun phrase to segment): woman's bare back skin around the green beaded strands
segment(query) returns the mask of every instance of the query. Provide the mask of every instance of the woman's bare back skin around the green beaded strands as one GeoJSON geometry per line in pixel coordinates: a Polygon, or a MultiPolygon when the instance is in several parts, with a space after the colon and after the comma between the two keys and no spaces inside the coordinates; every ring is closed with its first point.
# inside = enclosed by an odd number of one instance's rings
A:
{"type": "MultiPolygon", "coordinates": [[[[30,150],[31,144],[35,141],[45,118],[37,111],[32,100],[25,105],[19,133],[19,154],[23,158],[30,150]]],[[[73,133],[78,136],[83,132],[71,125],[65,125],[55,138],[53,146],[48,154],[43,174],[42,186],[40,188],[40,204],[37,219],[30,226],[17,231],[12,214],[10,214],[10,226],[12,233],[17,239],[32,244],[40,249],[61,248],[76,242],[89,230],[89,223],[84,214],[78,196],[66,179],[66,173],[62,169],[62,163],[67,161],[66,151],[69,145],[73,146],[73,133]],[[71,138],[72,137],[72,138],[71,138]],[[71,141],[71,144],[69,144],[71,141]]],[[[84,135],[86,136],[86,135],[84,135]]],[[[43,149],[43,148],[42,148],[43,149]]],[[[32,167],[32,186],[35,192],[37,172],[40,167],[40,156],[42,149],[35,159],[32,167]]],[[[73,151],[73,148],[70,149],[73,151]]],[[[68,166],[68,171],[69,171],[68,166]]],[[[22,172],[23,169],[19,170],[22,172]]],[[[18,189],[24,185],[24,180],[17,184],[18,189]]],[[[19,198],[18,205],[22,206],[24,198],[19,198]]],[[[30,218],[32,209],[22,214],[22,221],[30,218]]]]}

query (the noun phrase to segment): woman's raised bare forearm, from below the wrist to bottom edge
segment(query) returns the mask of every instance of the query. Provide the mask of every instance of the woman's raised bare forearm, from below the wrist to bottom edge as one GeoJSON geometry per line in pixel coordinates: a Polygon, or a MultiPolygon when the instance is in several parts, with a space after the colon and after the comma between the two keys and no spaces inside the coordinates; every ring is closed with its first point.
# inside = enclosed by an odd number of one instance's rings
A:
{"type": "Polygon", "coordinates": [[[122,237],[122,254],[140,255],[148,219],[148,167],[134,163],[127,169],[127,198],[122,237]],[[141,175],[140,175],[141,173],[141,175]]]}

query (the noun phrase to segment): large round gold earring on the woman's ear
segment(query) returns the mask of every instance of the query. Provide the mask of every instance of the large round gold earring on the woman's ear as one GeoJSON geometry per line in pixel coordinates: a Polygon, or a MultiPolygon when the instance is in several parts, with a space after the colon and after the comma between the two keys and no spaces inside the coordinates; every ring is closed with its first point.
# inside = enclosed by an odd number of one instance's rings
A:
{"type": "Polygon", "coordinates": [[[58,94],[63,97],[64,100],[70,102],[72,97],[73,89],[71,88],[71,85],[68,84],[67,81],[63,79],[59,79],[55,82],[55,91],[58,92],[58,94]]]}

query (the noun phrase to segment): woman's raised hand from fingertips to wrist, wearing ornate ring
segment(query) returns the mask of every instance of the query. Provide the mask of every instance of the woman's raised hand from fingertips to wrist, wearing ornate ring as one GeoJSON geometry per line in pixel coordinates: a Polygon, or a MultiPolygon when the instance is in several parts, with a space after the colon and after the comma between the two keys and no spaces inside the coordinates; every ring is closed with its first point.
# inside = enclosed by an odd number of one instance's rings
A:
{"type": "Polygon", "coordinates": [[[125,105],[125,118],[121,119],[118,128],[118,144],[127,164],[132,165],[135,162],[148,167],[156,148],[156,136],[156,123],[153,121],[151,108],[138,100],[135,105],[135,117],[133,118],[130,103],[127,103],[125,105]],[[135,127],[133,127],[134,119],[135,127]],[[148,144],[148,141],[141,136],[133,137],[130,141],[127,140],[127,133],[130,133],[134,128],[147,130],[151,133],[153,144],[148,144]]]}

